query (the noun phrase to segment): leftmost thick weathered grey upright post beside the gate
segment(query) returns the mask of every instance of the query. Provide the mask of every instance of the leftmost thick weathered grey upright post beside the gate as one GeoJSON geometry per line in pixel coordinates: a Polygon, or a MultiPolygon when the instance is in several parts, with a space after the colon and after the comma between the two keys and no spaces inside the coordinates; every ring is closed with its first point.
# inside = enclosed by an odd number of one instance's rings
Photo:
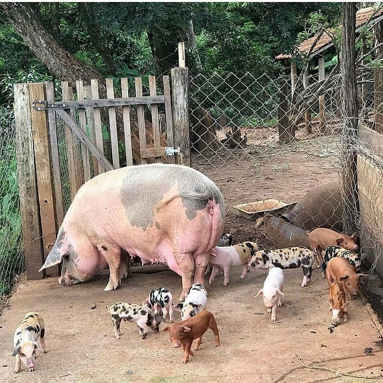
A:
{"type": "Polygon", "coordinates": [[[22,242],[28,279],[42,279],[43,264],[35,154],[28,84],[14,86],[17,180],[20,195],[22,242]]]}

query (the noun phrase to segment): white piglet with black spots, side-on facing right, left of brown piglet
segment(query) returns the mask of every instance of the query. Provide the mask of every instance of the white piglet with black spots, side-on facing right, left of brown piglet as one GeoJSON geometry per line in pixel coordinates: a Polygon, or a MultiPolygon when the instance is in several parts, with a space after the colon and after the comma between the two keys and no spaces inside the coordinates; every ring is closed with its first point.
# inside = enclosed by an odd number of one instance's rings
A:
{"type": "Polygon", "coordinates": [[[147,304],[134,304],[134,303],[115,303],[109,308],[109,314],[112,317],[114,326],[114,336],[119,339],[122,335],[119,325],[121,321],[136,322],[138,333],[141,339],[145,339],[148,331],[151,329],[154,332],[159,331],[159,324],[162,317],[154,313],[147,304]]]}

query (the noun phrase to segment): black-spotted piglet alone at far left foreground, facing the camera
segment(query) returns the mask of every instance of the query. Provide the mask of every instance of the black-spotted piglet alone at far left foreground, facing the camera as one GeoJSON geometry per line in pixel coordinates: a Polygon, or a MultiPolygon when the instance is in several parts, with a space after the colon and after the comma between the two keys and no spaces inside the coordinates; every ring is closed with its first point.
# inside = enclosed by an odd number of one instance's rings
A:
{"type": "Polygon", "coordinates": [[[41,316],[35,311],[27,313],[13,337],[12,356],[16,356],[14,373],[20,372],[21,362],[30,372],[35,371],[36,348],[41,347],[42,352],[46,352],[44,335],[45,326],[41,316]]]}

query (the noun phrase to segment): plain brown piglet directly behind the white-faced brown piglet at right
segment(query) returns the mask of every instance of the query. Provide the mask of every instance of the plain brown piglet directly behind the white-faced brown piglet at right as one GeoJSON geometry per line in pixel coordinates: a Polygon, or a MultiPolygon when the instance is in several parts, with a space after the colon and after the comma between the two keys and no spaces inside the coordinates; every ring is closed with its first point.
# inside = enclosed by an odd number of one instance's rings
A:
{"type": "Polygon", "coordinates": [[[350,299],[352,299],[352,296],[357,295],[361,278],[367,276],[368,274],[356,274],[355,266],[350,265],[345,258],[334,257],[328,261],[326,268],[328,284],[339,283],[350,299]]]}

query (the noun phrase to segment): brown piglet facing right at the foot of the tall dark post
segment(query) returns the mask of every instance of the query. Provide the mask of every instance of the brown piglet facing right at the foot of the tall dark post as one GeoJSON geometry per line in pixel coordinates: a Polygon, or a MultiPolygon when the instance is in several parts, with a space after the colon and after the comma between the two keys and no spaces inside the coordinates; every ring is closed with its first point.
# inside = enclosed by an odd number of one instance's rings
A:
{"type": "Polygon", "coordinates": [[[322,251],[326,250],[326,247],[329,245],[341,246],[350,251],[356,251],[358,249],[355,243],[355,234],[349,236],[321,227],[311,232],[307,231],[307,240],[310,244],[310,248],[316,254],[318,265],[323,262],[322,251]]]}

